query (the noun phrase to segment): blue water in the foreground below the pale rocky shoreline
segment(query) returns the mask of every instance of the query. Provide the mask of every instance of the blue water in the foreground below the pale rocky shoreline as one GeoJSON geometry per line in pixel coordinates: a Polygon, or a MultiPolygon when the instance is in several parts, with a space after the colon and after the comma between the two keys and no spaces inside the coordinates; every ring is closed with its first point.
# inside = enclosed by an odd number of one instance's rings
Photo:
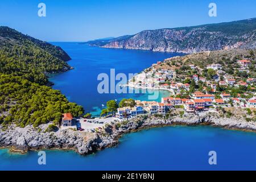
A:
{"type": "Polygon", "coordinates": [[[0,169],[24,170],[255,170],[256,134],[209,126],[164,127],[127,134],[114,148],[90,156],[47,151],[46,166],[38,155],[10,155],[0,150],[0,169]],[[217,152],[217,165],[208,163],[217,152]]]}

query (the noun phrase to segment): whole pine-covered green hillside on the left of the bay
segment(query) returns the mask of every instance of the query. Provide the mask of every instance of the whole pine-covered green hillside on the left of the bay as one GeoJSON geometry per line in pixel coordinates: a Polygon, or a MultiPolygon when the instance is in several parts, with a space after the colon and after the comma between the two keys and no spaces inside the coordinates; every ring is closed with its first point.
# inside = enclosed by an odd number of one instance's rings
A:
{"type": "Polygon", "coordinates": [[[62,113],[84,113],[60,91],[45,86],[48,73],[70,69],[65,55],[59,47],[0,27],[0,124],[58,125],[62,113]]]}

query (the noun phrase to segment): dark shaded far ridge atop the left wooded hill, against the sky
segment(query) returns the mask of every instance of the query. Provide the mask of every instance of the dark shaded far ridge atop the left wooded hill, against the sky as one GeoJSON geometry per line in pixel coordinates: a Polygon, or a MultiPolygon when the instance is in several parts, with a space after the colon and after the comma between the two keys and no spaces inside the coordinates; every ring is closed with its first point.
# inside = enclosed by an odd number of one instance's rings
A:
{"type": "Polygon", "coordinates": [[[55,56],[63,61],[71,60],[68,54],[58,46],[53,46],[52,44],[49,44],[47,42],[43,42],[41,40],[32,38],[31,36],[24,35],[9,27],[0,27],[0,48],[1,46],[5,46],[6,44],[21,45],[24,43],[24,40],[26,40],[27,42],[31,42],[35,46],[44,49],[44,51],[47,51],[52,56],[55,56]]]}

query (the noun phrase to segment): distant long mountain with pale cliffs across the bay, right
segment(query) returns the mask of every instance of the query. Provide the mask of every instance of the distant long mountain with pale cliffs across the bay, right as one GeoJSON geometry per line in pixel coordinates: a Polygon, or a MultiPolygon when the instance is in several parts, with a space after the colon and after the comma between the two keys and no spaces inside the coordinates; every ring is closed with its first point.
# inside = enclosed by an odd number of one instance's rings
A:
{"type": "Polygon", "coordinates": [[[193,27],[145,30],[135,35],[87,43],[105,48],[183,53],[256,48],[256,18],[193,27]]]}

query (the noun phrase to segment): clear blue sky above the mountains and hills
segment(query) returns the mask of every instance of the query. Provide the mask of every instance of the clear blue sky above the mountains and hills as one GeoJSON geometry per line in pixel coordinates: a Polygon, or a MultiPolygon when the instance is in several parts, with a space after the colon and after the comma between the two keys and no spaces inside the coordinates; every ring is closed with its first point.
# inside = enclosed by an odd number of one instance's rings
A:
{"type": "Polygon", "coordinates": [[[256,17],[255,0],[1,0],[0,25],[46,41],[83,42],[142,30],[256,17]],[[46,3],[47,16],[38,16],[46,3]],[[208,5],[217,5],[217,17],[208,5]]]}

